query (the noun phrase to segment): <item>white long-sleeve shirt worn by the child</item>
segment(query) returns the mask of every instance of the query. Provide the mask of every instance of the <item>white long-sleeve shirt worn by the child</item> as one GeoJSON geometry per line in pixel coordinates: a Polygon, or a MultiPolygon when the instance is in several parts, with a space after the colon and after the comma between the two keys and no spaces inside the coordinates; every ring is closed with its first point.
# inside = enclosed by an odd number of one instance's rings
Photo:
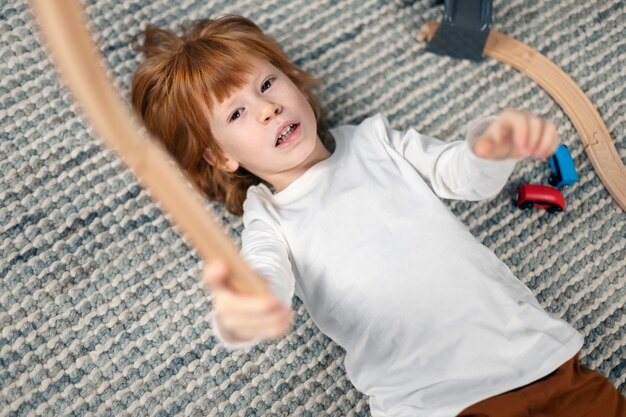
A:
{"type": "Polygon", "coordinates": [[[283,191],[248,192],[243,256],[346,350],[374,416],[454,416],[581,348],[438,198],[485,199],[504,186],[515,161],[468,146],[485,123],[446,144],[376,115],[333,129],[330,158],[283,191]]]}

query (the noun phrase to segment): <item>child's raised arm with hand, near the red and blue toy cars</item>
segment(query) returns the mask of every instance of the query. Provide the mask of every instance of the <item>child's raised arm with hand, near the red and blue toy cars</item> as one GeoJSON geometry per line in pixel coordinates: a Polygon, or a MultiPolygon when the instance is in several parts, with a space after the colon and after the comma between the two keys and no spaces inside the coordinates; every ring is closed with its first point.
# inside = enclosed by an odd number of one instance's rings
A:
{"type": "Polygon", "coordinates": [[[518,159],[534,153],[544,157],[558,146],[552,124],[515,110],[477,123],[465,141],[445,143],[413,129],[386,129],[391,146],[435,194],[447,199],[491,198],[504,187],[518,159]]]}

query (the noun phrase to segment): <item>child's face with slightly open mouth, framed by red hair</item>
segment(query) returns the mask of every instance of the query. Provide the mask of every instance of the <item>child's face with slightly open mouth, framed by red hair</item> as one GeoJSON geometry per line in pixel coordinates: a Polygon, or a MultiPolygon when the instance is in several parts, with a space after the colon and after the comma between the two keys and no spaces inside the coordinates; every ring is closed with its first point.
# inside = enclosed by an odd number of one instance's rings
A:
{"type": "Polygon", "coordinates": [[[268,61],[252,64],[241,88],[213,102],[209,125],[227,158],[223,169],[242,166],[280,191],[329,153],[298,87],[268,61]]]}

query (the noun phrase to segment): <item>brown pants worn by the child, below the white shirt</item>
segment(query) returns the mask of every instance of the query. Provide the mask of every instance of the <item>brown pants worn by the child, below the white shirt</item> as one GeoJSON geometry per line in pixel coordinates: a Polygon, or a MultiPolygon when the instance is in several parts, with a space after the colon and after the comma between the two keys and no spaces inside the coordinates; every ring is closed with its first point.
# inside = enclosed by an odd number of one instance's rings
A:
{"type": "Polygon", "coordinates": [[[459,417],[626,417],[626,398],[578,354],[532,384],[480,401],[459,417]]]}

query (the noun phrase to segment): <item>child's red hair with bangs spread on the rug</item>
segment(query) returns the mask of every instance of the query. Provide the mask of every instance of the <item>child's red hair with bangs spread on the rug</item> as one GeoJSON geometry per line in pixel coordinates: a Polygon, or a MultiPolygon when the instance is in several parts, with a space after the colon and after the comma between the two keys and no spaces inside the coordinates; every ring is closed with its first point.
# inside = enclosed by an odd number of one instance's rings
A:
{"type": "Polygon", "coordinates": [[[133,41],[135,50],[145,55],[133,75],[133,107],[196,188],[224,203],[231,213],[243,214],[248,187],[262,180],[242,167],[235,172],[219,168],[225,159],[211,133],[207,111],[213,100],[223,101],[244,84],[251,56],[269,61],[289,77],[311,105],[318,135],[326,137],[312,93],[315,79],[292,64],[278,43],[252,21],[223,16],[183,26],[181,36],[152,25],[142,34],[143,44],[138,38],[133,41]],[[204,159],[205,151],[214,164],[204,159]]]}

